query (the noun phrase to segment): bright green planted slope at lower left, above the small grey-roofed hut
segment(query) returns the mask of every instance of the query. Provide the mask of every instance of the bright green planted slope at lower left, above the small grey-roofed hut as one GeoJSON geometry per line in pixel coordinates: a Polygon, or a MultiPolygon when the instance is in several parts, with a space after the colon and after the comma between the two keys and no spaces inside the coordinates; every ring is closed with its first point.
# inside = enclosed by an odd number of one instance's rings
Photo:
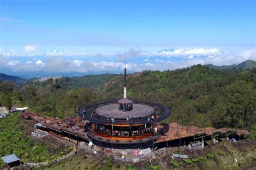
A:
{"type": "MultiPolygon", "coordinates": [[[[44,162],[62,157],[72,150],[72,147],[65,147],[51,138],[43,137],[36,139],[31,137],[33,122],[20,118],[13,114],[3,121],[0,121],[0,156],[16,154],[21,161],[44,162]]],[[[0,168],[5,164],[0,159],[0,168]]]]}

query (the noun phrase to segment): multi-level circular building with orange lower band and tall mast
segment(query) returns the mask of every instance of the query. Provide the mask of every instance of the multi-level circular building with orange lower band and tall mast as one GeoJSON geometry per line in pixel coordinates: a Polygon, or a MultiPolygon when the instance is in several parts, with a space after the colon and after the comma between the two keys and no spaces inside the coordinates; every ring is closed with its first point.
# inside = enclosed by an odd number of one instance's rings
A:
{"type": "Polygon", "coordinates": [[[124,98],[87,105],[79,110],[86,121],[87,137],[96,145],[111,148],[153,147],[154,140],[169,131],[157,128],[157,122],[170,116],[170,109],[158,103],[132,101],[124,98]]]}

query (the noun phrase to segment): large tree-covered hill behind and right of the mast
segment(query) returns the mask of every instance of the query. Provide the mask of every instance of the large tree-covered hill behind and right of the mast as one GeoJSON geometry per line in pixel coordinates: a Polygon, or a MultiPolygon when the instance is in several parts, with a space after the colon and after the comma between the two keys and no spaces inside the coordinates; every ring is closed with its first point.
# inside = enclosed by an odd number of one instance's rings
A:
{"type": "MultiPolygon", "coordinates": [[[[121,98],[123,82],[104,87],[102,94],[105,100],[121,98]]],[[[233,74],[197,65],[174,71],[145,71],[128,77],[127,96],[173,105],[166,122],[248,128],[256,122],[256,69],[233,74]]]]}

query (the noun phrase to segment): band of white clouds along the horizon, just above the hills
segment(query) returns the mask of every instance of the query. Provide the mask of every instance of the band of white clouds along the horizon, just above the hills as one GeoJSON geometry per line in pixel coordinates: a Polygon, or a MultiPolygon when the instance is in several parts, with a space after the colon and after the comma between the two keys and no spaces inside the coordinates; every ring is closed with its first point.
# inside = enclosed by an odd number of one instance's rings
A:
{"type": "Polygon", "coordinates": [[[104,54],[93,61],[88,60],[86,56],[93,56],[93,54],[68,51],[41,52],[37,50],[37,46],[27,45],[21,52],[14,49],[8,52],[1,50],[0,66],[14,72],[121,73],[124,69],[123,59],[126,56],[126,68],[132,73],[146,69],[173,70],[197,64],[211,63],[217,66],[238,64],[248,59],[256,60],[256,48],[247,49],[240,53],[225,52],[217,48],[172,48],[159,52],[128,49],[124,53],[114,54],[111,61],[106,61],[104,54]],[[37,59],[38,56],[42,57],[37,59]]]}

